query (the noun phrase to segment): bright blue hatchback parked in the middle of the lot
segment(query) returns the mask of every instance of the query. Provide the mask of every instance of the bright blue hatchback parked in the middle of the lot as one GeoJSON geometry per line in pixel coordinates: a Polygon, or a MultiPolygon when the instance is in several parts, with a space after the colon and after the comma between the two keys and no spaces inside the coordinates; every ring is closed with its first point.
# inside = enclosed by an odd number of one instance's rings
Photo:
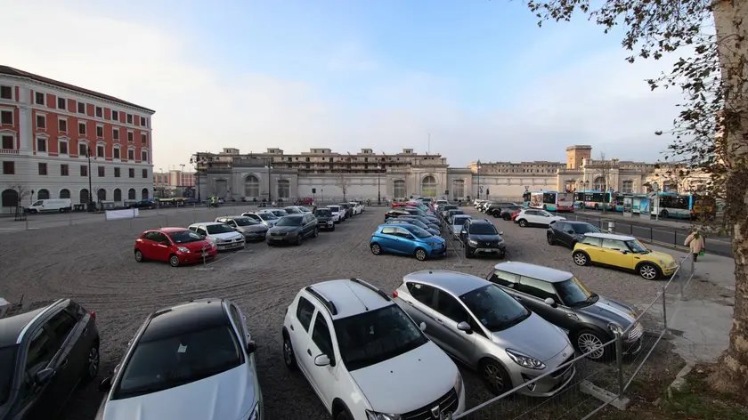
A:
{"type": "Polygon", "coordinates": [[[444,238],[434,236],[415,225],[381,224],[369,241],[371,254],[415,255],[419,261],[446,254],[444,238]]]}

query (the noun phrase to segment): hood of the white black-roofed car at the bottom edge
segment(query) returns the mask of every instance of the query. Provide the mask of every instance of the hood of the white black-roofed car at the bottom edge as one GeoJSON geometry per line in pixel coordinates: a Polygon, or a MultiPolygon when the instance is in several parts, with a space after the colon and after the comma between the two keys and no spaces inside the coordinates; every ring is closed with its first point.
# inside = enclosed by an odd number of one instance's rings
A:
{"type": "Polygon", "coordinates": [[[247,365],[201,381],[103,406],[103,420],[243,420],[255,406],[255,378],[247,365]]]}

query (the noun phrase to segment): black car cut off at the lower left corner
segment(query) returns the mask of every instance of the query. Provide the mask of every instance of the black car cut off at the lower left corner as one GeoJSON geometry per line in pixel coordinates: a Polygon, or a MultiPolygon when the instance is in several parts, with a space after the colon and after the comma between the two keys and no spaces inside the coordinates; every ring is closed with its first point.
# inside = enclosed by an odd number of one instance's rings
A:
{"type": "Polygon", "coordinates": [[[70,299],[0,307],[0,419],[55,418],[98,373],[93,312],[70,299]]]}

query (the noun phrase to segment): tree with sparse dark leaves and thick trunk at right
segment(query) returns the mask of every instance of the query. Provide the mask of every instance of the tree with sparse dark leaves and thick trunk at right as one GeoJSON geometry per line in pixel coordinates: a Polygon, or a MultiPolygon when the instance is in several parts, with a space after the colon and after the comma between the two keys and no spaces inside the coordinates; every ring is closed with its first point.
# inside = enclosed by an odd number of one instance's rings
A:
{"type": "MultiPolygon", "coordinates": [[[[628,61],[659,60],[686,48],[671,72],[647,81],[654,90],[678,86],[685,96],[670,131],[674,140],[665,160],[710,174],[707,193],[724,194],[732,233],[736,298],[728,350],[711,384],[744,395],[748,384],[748,2],[728,0],[529,0],[538,24],[588,14],[608,33],[624,27],[628,61]]],[[[662,134],[657,132],[656,134],[662,134]]],[[[707,226],[708,228],[708,226],[707,226]]]]}

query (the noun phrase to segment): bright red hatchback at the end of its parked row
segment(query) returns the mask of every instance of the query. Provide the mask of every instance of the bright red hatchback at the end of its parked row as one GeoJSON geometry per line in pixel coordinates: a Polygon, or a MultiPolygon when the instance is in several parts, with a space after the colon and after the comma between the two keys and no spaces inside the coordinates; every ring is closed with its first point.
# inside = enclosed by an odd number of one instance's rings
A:
{"type": "Polygon", "coordinates": [[[212,240],[183,228],[160,228],[142,232],[135,240],[135,261],[166,261],[172,267],[212,260],[218,247],[212,240]]]}

